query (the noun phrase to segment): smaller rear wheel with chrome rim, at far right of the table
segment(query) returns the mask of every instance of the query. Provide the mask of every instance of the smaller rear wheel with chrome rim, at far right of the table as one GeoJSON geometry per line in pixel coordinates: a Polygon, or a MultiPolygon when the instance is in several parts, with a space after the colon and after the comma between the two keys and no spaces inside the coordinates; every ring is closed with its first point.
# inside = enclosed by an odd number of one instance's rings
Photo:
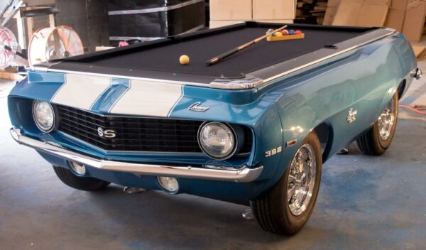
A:
{"type": "Polygon", "coordinates": [[[367,155],[380,156],[391,146],[398,121],[398,92],[393,94],[371,129],[356,139],[356,146],[367,155]]]}

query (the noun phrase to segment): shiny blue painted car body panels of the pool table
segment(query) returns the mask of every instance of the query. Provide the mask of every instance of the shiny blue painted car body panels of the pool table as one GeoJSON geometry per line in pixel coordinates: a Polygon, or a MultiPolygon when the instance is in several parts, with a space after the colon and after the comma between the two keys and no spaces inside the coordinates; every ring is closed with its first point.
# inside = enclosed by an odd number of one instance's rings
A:
{"type": "MultiPolygon", "coordinates": [[[[277,183],[310,131],[317,131],[322,139],[323,162],[363,134],[378,119],[393,94],[398,92],[402,96],[408,89],[413,80],[410,72],[416,68],[410,44],[403,35],[394,33],[251,89],[182,85],[182,96],[168,112],[168,118],[220,121],[251,129],[253,147],[249,155],[224,161],[213,160],[205,154],[105,151],[60,131],[43,133],[34,124],[31,104],[35,99],[53,102],[55,94],[65,85],[66,72],[30,70],[28,77],[18,82],[9,95],[9,113],[13,128],[19,129],[22,135],[93,158],[235,169],[262,166],[261,174],[250,182],[178,178],[180,193],[248,204],[277,183]],[[188,109],[197,102],[209,107],[208,111],[188,109]],[[27,106],[28,109],[21,108],[27,106]],[[356,120],[349,123],[347,116],[351,110],[357,111],[356,120]],[[281,150],[268,153],[280,147],[281,150]]],[[[88,111],[129,115],[111,112],[111,103],[126,91],[129,80],[121,77],[110,80],[113,84],[109,92],[99,95],[97,103],[88,111]]],[[[84,91],[89,90],[82,89],[84,91]]],[[[66,158],[45,151],[39,153],[52,165],[70,168],[66,158]]],[[[155,175],[88,166],[87,176],[124,186],[163,190],[155,175]]]]}

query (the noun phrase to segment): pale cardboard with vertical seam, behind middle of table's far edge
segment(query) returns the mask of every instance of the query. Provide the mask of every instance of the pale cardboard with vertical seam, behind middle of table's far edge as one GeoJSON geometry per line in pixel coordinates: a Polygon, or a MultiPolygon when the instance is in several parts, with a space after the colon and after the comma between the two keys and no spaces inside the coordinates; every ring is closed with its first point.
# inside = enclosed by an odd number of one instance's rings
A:
{"type": "Polygon", "coordinates": [[[293,23],[294,0],[210,0],[210,28],[244,21],[293,23]]]}

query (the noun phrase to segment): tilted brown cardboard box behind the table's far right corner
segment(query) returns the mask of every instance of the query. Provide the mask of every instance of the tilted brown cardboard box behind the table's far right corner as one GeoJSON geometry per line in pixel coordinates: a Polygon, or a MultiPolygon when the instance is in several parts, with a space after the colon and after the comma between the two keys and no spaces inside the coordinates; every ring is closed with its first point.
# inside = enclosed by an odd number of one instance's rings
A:
{"type": "Polygon", "coordinates": [[[384,26],[388,0],[342,0],[332,22],[337,26],[384,26]]]}

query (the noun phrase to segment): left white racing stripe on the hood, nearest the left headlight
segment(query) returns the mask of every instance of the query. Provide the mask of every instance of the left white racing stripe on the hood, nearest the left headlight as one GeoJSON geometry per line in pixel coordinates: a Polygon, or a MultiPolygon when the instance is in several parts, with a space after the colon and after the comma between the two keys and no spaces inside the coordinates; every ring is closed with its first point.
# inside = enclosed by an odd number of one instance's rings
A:
{"type": "Polygon", "coordinates": [[[65,83],[55,93],[51,102],[89,110],[110,85],[110,77],[66,74],[65,83]]]}

